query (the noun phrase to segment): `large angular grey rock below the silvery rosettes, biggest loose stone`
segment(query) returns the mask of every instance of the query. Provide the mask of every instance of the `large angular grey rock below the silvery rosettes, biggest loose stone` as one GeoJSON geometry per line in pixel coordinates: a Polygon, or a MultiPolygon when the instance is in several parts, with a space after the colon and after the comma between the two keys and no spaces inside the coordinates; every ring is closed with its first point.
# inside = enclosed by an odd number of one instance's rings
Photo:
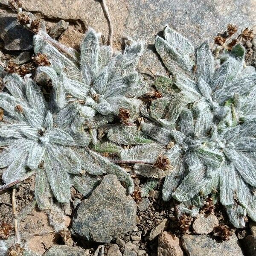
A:
{"type": "Polygon", "coordinates": [[[88,241],[108,243],[135,227],[136,203],[117,180],[106,175],[88,199],[79,205],[72,231],[88,241]]]}

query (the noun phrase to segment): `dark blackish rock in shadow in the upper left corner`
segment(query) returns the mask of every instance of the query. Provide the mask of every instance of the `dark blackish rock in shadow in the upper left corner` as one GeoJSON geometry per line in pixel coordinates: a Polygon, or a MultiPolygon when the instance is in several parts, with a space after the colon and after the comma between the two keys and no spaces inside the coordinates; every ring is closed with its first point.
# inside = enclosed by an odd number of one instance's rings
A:
{"type": "Polygon", "coordinates": [[[6,50],[20,51],[32,48],[33,34],[17,21],[17,15],[3,13],[0,16],[0,38],[6,50]]]}

